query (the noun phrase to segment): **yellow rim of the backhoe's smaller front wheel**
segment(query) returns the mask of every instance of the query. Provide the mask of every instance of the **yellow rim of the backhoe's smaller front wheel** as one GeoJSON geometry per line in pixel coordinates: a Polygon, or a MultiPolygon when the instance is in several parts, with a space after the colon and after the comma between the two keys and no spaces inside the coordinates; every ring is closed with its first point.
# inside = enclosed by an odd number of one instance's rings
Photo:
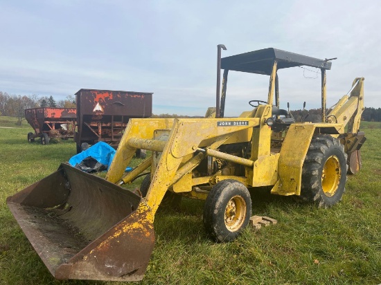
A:
{"type": "Polygon", "coordinates": [[[239,230],[245,221],[246,202],[241,196],[233,196],[225,209],[225,226],[231,232],[239,230]]]}

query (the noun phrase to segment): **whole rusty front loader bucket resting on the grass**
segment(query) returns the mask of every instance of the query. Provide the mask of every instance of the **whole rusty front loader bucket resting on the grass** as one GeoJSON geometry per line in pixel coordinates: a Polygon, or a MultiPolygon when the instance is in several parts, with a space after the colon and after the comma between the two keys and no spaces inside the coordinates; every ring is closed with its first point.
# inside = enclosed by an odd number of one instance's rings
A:
{"type": "Polygon", "coordinates": [[[62,163],[7,203],[55,278],[143,279],[154,229],[140,196],[62,163]]]}

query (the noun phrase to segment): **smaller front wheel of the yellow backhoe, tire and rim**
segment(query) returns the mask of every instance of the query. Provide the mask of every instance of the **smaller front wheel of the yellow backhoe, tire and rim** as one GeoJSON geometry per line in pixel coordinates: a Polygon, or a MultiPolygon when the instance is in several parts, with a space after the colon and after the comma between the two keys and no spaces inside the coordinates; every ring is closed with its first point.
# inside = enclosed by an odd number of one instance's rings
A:
{"type": "Polygon", "coordinates": [[[249,223],[251,198],[242,183],[227,179],[213,186],[204,205],[204,227],[215,241],[236,239],[249,223]]]}

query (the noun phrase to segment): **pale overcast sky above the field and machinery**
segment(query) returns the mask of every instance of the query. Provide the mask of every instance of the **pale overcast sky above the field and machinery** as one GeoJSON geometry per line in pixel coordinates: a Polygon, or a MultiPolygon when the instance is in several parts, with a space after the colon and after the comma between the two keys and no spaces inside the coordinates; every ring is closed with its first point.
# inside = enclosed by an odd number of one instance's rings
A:
{"type": "MultiPolygon", "coordinates": [[[[269,47],[338,57],[327,71],[328,107],[365,77],[365,106],[378,108],[380,26],[377,0],[0,0],[0,91],[56,100],[81,88],[145,91],[155,114],[204,115],[215,104],[216,46],[224,44],[222,57],[269,47]]],[[[320,75],[278,75],[281,107],[319,107],[320,75]]],[[[231,71],[227,116],[267,100],[268,82],[231,71]]]]}

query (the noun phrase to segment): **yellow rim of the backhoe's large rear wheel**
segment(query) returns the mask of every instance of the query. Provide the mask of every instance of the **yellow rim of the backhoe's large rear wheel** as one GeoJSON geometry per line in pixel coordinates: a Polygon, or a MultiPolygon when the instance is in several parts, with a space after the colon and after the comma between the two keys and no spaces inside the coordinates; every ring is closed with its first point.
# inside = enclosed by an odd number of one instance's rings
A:
{"type": "Polygon", "coordinates": [[[321,172],[321,187],[326,196],[333,196],[340,183],[342,171],[337,156],[330,156],[324,164],[321,172]]]}

